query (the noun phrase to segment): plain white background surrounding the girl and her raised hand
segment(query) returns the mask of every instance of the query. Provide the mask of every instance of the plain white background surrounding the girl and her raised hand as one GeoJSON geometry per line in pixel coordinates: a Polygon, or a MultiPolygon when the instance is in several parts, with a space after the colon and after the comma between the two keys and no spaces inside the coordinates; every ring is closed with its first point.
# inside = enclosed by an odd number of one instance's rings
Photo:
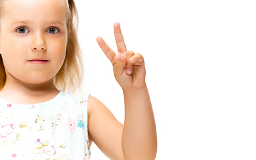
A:
{"type": "MultiPolygon", "coordinates": [[[[256,159],[255,1],[76,0],[87,91],[124,122],[122,89],[97,36],[146,61],[157,160],[256,159]]],[[[112,146],[109,146],[112,147],[112,146]]],[[[92,145],[92,159],[108,159],[92,145]]],[[[113,151],[115,149],[113,148],[113,151]]]]}

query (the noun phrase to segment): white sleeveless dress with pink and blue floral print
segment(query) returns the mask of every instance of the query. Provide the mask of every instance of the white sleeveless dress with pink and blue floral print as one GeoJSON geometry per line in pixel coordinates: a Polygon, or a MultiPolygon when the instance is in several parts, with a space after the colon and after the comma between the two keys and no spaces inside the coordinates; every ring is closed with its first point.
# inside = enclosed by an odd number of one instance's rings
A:
{"type": "Polygon", "coordinates": [[[88,97],[60,91],[31,105],[0,99],[0,159],[90,159],[88,97]]]}

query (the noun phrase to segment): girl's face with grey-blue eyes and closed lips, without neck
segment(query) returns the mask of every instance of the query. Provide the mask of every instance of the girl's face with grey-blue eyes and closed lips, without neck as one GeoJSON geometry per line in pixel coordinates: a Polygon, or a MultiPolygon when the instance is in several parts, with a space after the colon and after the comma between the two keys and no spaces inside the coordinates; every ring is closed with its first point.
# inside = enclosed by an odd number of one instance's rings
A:
{"type": "Polygon", "coordinates": [[[1,16],[0,53],[8,79],[45,83],[61,68],[68,39],[64,7],[53,0],[8,0],[1,16]],[[59,30],[58,30],[59,29],[59,30]],[[45,64],[28,60],[43,58],[45,64]]]}

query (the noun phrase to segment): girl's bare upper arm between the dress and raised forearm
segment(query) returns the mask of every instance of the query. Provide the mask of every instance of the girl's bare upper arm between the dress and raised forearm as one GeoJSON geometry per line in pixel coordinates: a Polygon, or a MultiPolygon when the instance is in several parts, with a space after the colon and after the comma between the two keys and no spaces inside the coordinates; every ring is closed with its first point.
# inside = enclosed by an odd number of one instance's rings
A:
{"type": "Polygon", "coordinates": [[[94,141],[105,155],[122,157],[120,141],[123,125],[99,99],[92,95],[88,99],[88,132],[91,142],[94,141]],[[112,148],[115,149],[115,152],[112,148]]]}

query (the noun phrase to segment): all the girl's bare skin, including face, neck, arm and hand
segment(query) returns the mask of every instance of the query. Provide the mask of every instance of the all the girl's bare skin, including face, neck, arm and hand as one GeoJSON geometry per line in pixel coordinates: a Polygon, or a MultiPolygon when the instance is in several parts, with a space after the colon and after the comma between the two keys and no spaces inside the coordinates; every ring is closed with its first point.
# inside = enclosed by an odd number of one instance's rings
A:
{"type": "MultiPolygon", "coordinates": [[[[7,83],[0,91],[0,98],[17,104],[49,101],[59,93],[53,85],[53,77],[63,64],[66,53],[68,34],[65,12],[51,0],[9,0],[8,7],[7,13],[1,17],[0,53],[7,83]],[[17,19],[30,20],[31,23],[11,25],[17,19]],[[60,21],[64,25],[50,24],[49,21],[60,21]],[[17,32],[19,27],[26,27],[27,33],[17,32]],[[60,31],[51,34],[51,27],[60,31]],[[35,57],[49,61],[42,66],[27,62],[35,57]]],[[[112,63],[116,81],[124,91],[125,121],[122,125],[103,103],[90,96],[90,146],[94,141],[110,159],[155,159],[156,125],[145,83],[144,59],[139,53],[127,51],[119,23],[114,23],[114,36],[118,54],[102,37],[96,40],[112,63]]]]}

